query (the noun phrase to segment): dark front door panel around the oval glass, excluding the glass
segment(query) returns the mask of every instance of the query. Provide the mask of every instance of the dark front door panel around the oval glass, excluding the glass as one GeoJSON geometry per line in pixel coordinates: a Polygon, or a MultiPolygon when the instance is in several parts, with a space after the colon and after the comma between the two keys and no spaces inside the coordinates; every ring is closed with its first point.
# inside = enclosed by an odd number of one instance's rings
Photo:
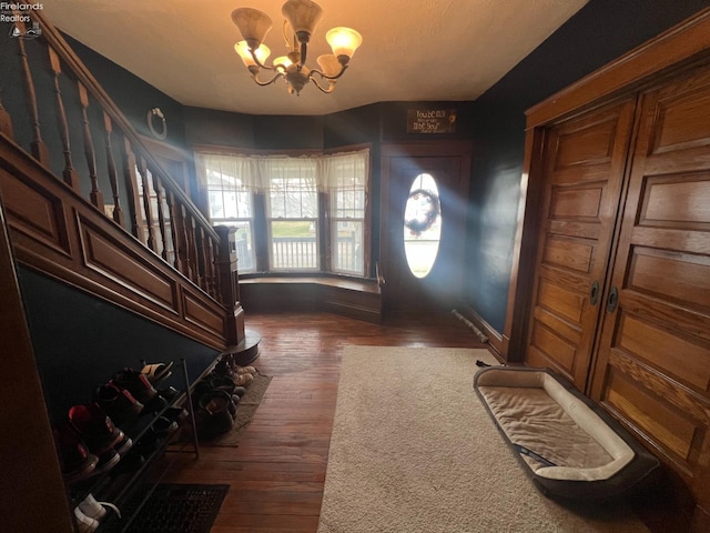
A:
{"type": "MultiPolygon", "coordinates": [[[[442,145],[446,152],[446,144],[442,145]]],[[[433,143],[412,152],[390,145],[383,154],[381,258],[385,275],[383,304],[387,313],[449,312],[460,301],[470,155],[429,157],[437,153],[437,148],[433,143]],[[438,188],[440,240],[432,270],[417,278],[405,253],[404,221],[412,184],[422,173],[430,174],[438,188]]]]}

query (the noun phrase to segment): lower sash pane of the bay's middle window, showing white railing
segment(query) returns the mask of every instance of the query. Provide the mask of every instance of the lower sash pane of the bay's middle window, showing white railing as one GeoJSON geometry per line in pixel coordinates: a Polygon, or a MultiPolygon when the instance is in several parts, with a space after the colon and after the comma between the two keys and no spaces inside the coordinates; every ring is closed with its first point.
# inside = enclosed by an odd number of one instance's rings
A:
{"type": "Polygon", "coordinates": [[[271,222],[272,269],[317,269],[315,220],[271,222]]]}

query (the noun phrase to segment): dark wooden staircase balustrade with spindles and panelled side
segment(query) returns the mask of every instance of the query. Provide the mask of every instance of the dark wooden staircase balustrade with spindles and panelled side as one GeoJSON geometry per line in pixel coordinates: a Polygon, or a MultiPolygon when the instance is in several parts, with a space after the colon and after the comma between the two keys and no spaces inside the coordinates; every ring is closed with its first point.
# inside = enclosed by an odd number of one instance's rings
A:
{"type": "Polygon", "coordinates": [[[230,230],[212,228],[41,12],[24,14],[41,39],[0,50],[0,197],[18,262],[255,356],[230,230]]]}

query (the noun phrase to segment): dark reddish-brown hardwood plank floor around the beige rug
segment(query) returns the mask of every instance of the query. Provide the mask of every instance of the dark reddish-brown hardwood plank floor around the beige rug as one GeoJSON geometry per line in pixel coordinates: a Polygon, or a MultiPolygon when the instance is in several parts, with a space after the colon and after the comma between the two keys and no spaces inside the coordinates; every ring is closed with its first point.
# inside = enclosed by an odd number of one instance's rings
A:
{"type": "Polygon", "coordinates": [[[485,348],[453,315],[375,325],[324,313],[247,314],[246,328],[262,336],[253,364],[273,376],[253,423],[239,447],[203,445],[166,480],[232,485],[212,533],[317,530],[343,346],[485,348]]]}

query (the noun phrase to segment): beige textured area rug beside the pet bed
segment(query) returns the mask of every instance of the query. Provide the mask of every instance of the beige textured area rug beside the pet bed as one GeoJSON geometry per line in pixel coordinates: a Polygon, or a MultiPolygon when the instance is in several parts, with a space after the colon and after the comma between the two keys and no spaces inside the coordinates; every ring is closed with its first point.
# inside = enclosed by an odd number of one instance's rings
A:
{"type": "Polygon", "coordinates": [[[486,350],[346,346],[318,533],[648,532],[532,485],[480,404],[486,350]]]}

